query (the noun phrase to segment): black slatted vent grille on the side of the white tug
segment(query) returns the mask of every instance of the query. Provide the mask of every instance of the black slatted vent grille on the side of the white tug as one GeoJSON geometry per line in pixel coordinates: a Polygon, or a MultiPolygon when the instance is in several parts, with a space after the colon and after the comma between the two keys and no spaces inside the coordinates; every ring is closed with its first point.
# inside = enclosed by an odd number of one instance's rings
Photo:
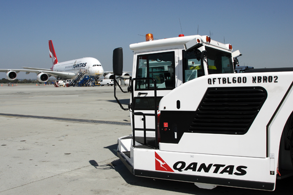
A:
{"type": "Polygon", "coordinates": [[[208,88],[188,131],[243,135],[266,98],[262,87],[208,88]]]}

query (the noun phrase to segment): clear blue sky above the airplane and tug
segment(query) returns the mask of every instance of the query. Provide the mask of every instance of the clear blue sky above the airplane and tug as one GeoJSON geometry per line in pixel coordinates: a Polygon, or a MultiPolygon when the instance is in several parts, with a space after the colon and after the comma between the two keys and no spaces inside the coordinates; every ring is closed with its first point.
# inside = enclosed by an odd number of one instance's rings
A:
{"type": "MultiPolygon", "coordinates": [[[[292,0],[9,0],[0,6],[0,68],[50,68],[48,40],[59,62],[93,57],[112,70],[113,49],[181,34],[211,34],[243,54],[240,65],[293,67],[292,0]]],[[[5,78],[5,73],[0,73],[5,78]]],[[[36,78],[19,73],[18,78],[36,78]]]]}

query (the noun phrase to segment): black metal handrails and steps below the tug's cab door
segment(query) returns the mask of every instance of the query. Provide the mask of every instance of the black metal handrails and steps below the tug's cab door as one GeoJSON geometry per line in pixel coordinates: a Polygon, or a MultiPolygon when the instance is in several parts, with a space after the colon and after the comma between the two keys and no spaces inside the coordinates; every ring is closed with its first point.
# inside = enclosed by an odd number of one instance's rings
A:
{"type": "MultiPolygon", "coordinates": [[[[132,139],[133,139],[133,147],[150,147],[154,149],[159,148],[159,143],[158,143],[158,103],[157,103],[157,84],[156,80],[153,78],[133,78],[131,80],[131,112],[132,112],[132,139]],[[134,86],[133,86],[133,81],[134,80],[151,80],[154,83],[154,114],[150,113],[143,113],[143,112],[135,112],[135,106],[134,106],[134,86]],[[143,116],[143,121],[144,121],[144,137],[135,137],[135,120],[134,116],[143,116]],[[149,130],[154,130],[155,132],[155,137],[146,137],[146,116],[152,116],[155,117],[155,129],[149,129],[149,130]],[[143,144],[143,145],[135,145],[135,141],[143,144]]],[[[145,93],[139,92],[139,95],[143,95],[145,93]]]]}

